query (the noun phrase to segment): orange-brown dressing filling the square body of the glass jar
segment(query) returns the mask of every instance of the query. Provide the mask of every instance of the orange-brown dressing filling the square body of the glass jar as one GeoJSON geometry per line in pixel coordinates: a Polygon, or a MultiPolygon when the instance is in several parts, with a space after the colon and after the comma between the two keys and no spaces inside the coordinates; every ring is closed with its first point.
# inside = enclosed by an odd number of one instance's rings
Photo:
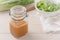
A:
{"type": "Polygon", "coordinates": [[[28,23],[26,21],[11,21],[10,31],[16,38],[24,36],[28,32],[28,23]]]}

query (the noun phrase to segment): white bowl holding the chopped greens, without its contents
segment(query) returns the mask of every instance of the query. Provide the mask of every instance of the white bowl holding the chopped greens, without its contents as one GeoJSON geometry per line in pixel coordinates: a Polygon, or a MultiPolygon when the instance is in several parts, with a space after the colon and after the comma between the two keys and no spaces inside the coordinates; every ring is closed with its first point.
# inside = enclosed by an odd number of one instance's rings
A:
{"type": "Polygon", "coordinates": [[[54,12],[45,12],[45,11],[39,10],[39,9],[37,8],[37,3],[38,3],[39,1],[40,1],[40,0],[38,0],[38,1],[36,2],[36,0],[35,0],[35,8],[36,8],[36,10],[40,13],[40,15],[43,15],[43,16],[45,16],[45,17],[51,17],[51,16],[54,16],[54,15],[60,14],[60,9],[57,10],[57,11],[54,11],[54,12]]]}

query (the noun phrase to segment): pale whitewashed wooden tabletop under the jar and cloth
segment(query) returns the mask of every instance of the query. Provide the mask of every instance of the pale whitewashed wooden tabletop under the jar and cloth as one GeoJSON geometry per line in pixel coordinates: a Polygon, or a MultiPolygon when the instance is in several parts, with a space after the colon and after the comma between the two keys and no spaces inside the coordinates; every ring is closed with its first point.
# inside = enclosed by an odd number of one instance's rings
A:
{"type": "Polygon", "coordinates": [[[43,32],[36,10],[28,13],[29,32],[25,36],[15,39],[9,30],[9,12],[0,12],[0,40],[60,40],[60,32],[43,32]]]}

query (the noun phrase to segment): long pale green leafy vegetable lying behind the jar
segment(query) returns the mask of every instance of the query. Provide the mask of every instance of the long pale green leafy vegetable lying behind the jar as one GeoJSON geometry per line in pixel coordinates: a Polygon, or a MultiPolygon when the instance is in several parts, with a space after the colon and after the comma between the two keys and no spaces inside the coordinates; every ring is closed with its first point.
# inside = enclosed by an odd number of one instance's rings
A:
{"type": "Polygon", "coordinates": [[[0,11],[9,10],[15,5],[27,6],[28,4],[32,4],[33,2],[34,0],[0,0],[0,11]]]}

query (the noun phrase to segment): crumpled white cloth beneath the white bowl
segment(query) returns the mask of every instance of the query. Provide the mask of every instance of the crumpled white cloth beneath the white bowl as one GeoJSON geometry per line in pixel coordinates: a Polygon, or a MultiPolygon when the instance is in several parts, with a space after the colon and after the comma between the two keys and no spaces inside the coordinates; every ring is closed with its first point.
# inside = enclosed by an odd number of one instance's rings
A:
{"type": "Polygon", "coordinates": [[[40,16],[40,20],[43,26],[43,30],[45,32],[50,32],[50,31],[60,31],[60,18],[43,18],[40,16]]]}

